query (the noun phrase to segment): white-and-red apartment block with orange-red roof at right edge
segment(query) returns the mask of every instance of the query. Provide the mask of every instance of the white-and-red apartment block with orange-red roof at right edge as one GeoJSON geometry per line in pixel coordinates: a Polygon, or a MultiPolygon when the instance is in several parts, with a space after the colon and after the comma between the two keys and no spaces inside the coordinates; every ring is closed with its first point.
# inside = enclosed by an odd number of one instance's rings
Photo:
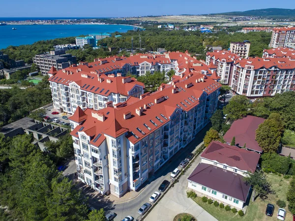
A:
{"type": "Polygon", "coordinates": [[[295,90],[295,59],[252,58],[236,61],[231,87],[238,95],[273,96],[295,90]]]}

